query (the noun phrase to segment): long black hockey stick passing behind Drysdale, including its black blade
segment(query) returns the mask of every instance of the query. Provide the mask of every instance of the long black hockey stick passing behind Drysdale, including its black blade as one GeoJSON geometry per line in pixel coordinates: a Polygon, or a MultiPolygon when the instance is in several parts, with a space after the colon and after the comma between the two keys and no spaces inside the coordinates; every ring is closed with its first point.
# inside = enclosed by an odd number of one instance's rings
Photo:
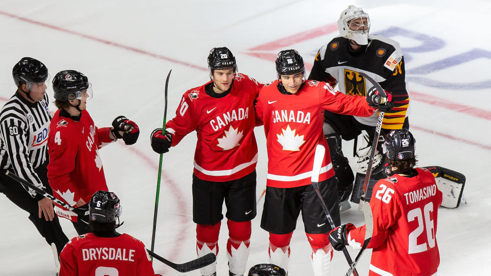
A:
{"type": "MultiPolygon", "coordinates": [[[[21,177],[17,176],[13,172],[7,171],[7,172],[5,172],[5,175],[7,175],[8,177],[10,177],[10,178],[14,179],[15,181],[19,182],[21,185],[25,185],[25,186],[27,186],[29,188],[32,188],[34,191],[36,191],[40,195],[53,200],[53,202],[55,202],[56,204],[62,206],[63,208],[66,208],[67,210],[74,212],[75,214],[77,214],[78,216],[80,216],[80,220],[81,221],[83,221],[84,223],[88,223],[88,214],[89,214],[88,213],[88,208],[85,208],[85,209],[80,209],[80,207],[79,208],[73,208],[69,204],[67,204],[67,203],[59,200],[58,198],[54,197],[50,193],[48,193],[48,192],[40,189],[39,187],[33,185],[32,183],[28,182],[24,178],[21,178],[21,177]],[[82,220],[82,217],[85,217],[86,221],[85,220],[82,220]]],[[[86,206],[86,205],[87,204],[85,204],[84,206],[86,206]]],[[[65,217],[65,216],[63,216],[63,217],[65,217]]],[[[117,233],[117,234],[119,234],[119,233],[117,233]]],[[[154,257],[155,259],[163,262],[164,264],[172,267],[173,269],[175,269],[175,270],[177,270],[179,272],[188,272],[188,271],[191,271],[191,270],[202,268],[202,267],[205,267],[207,265],[212,264],[216,260],[215,255],[213,253],[209,253],[209,254],[207,254],[207,255],[205,255],[203,257],[197,258],[195,260],[189,261],[189,262],[184,263],[184,264],[175,264],[175,263],[172,263],[171,261],[166,260],[165,258],[163,258],[163,257],[155,254],[151,250],[148,250],[147,249],[147,251],[148,251],[148,254],[150,256],[154,257]]]]}

